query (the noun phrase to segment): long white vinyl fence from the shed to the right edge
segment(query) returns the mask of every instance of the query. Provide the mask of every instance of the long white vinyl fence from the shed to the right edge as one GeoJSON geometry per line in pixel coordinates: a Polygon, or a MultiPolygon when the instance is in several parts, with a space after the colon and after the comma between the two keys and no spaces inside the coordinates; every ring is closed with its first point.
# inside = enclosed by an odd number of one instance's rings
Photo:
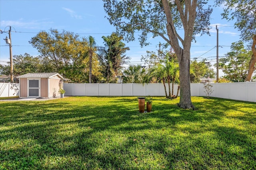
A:
{"type": "MultiPolygon", "coordinates": [[[[256,102],[256,82],[212,83],[211,85],[214,90],[211,97],[256,102]]],[[[168,84],[166,88],[168,93],[168,84]]],[[[175,84],[174,95],[177,93],[177,88],[178,85],[175,84]]],[[[165,96],[164,85],[161,83],[64,83],[64,90],[66,90],[66,96],[165,96]]],[[[191,96],[206,96],[204,91],[204,84],[191,84],[191,96]]]]}

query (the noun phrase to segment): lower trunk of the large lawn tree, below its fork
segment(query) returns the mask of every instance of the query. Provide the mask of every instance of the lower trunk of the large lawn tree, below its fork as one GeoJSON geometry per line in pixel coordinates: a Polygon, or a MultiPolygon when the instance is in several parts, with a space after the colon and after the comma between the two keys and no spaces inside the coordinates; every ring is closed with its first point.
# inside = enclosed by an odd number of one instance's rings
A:
{"type": "Polygon", "coordinates": [[[190,52],[182,50],[178,54],[180,66],[180,106],[183,109],[194,108],[190,92],[190,52]],[[183,56],[182,56],[183,55],[183,56]]]}

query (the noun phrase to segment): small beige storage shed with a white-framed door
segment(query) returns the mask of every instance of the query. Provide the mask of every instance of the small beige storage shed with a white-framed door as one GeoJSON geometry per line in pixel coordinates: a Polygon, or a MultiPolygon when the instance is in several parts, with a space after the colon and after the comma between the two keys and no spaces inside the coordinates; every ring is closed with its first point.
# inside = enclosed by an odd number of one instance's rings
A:
{"type": "Polygon", "coordinates": [[[28,73],[17,78],[20,78],[20,98],[59,97],[58,91],[63,88],[63,77],[56,72],[28,73]]]}

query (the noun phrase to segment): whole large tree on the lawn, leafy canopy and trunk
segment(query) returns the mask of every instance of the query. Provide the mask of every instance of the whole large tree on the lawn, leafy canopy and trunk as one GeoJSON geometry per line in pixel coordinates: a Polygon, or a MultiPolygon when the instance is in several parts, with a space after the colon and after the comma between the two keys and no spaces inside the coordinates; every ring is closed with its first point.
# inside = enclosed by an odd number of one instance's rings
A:
{"type": "Polygon", "coordinates": [[[126,35],[126,40],[134,40],[134,33],[141,32],[142,46],[148,45],[150,34],[162,37],[173,47],[180,67],[179,106],[194,107],[190,93],[190,47],[195,34],[208,33],[212,9],[203,9],[207,0],[103,1],[108,20],[126,35]]]}

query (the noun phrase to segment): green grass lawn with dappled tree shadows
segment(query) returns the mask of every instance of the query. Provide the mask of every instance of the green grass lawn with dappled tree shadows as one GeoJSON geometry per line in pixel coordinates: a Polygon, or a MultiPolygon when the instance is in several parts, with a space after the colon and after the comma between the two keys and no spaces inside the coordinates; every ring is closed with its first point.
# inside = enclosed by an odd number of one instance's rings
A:
{"type": "Polygon", "coordinates": [[[0,169],[256,169],[256,103],[154,97],[0,102],[0,169]]]}

